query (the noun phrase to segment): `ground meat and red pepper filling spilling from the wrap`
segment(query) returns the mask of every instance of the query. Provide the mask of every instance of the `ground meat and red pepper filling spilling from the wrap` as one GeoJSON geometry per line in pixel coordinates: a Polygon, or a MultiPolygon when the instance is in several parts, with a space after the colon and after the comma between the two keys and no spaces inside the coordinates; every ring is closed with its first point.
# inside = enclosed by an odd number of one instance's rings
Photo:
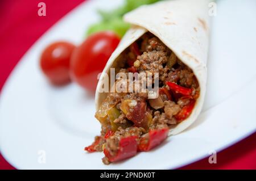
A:
{"type": "MultiPolygon", "coordinates": [[[[183,53],[190,56],[185,51],[183,53]]],[[[94,141],[96,144],[86,148],[104,151],[102,161],[105,164],[123,159],[124,140],[138,144],[134,145],[133,153],[137,149],[147,151],[154,148],[156,145],[151,145],[155,139],[153,134],[158,135],[158,139],[160,137],[160,144],[167,138],[170,128],[188,119],[200,95],[199,82],[193,71],[152,33],[144,33],[121,55],[115,61],[118,73],[127,76],[129,73],[151,74],[152,87],[155,87],[154,73],[158,73],[159,86],[156,88],[159,94],[150,99],[148,91],[107,93],[95,115],[101,123],[101,135],[94,141]]],[[[131,82],[132,87],[136,87],[142,86],[143,80],[147,79],[140,79],[139,85],[123,78],[115,82],[131,82]]]]}

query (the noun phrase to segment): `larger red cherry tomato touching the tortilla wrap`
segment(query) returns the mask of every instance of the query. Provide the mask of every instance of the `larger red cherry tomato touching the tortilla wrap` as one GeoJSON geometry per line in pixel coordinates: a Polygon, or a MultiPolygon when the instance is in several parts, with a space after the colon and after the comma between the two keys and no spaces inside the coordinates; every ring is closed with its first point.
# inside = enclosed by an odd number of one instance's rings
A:
{"type": "Polygon", "coordinates": [[[97,76],[104,69],[119,41],[119,37],[110,31],[97,32],[89,36],[72,54],[72,80],[85,89],[95,91],[97,76]]]}

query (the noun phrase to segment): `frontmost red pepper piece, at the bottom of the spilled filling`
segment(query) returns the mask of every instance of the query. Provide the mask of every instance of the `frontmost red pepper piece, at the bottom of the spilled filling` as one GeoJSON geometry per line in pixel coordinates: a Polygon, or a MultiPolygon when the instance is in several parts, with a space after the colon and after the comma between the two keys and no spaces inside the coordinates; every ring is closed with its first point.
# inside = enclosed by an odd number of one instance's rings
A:
{"type": "Polygon", "coordinates": [[[117,153],[115,155],[111,155],[108,150],[104,149],[105,156],[110,162],[117,162],[122,159],[133,157],[137,153],[137,138],[137,136],[121,138],[117,153]]]}

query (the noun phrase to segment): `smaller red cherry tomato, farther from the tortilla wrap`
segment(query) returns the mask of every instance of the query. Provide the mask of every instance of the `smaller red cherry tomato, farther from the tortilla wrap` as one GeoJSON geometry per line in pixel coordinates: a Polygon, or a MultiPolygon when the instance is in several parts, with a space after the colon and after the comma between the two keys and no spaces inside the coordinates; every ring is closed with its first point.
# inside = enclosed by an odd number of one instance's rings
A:
{"type": "Polygon", "coordinates": [[[69,62],[75,45],[57,41],[43,50],[40,57],[40,66],[43,73],[54,85],[63,85],[70,82],[69,62]]]}

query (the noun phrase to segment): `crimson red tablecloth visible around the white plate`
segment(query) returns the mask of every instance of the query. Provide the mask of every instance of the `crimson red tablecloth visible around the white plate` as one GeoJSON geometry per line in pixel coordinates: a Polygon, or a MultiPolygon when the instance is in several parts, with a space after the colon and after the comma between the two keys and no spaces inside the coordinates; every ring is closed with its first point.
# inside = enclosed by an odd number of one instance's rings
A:
{"type": "MultiPolygon", "coordinates": [[[[83,0],[44,0],[46,16],[38,16],[39,2],[42,1],[0,1],[0,90],[11,70],[31,45],[83,0]]],[[[255,140],[256,133],[220,151],[217,153],[216,164],[209,164],[208,158],[205,158],[181,169],[256,169],[255,140]]],[[[0,154],[0,169],[15,168],[0,154]]]]}

